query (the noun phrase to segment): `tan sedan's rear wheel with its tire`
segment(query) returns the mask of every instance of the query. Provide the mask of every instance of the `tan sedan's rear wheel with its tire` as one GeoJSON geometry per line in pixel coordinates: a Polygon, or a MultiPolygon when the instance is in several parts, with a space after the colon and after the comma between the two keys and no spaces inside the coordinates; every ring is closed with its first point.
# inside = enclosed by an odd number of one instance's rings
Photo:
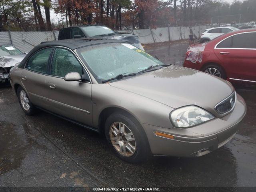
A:
{"type": "Polygon", "coordinates": [[[26,115],[33,115],[36,112],[36,107],[30,102],[26,91],[19,86],[17,90],[17,96],[22,110],[26,115]]]}

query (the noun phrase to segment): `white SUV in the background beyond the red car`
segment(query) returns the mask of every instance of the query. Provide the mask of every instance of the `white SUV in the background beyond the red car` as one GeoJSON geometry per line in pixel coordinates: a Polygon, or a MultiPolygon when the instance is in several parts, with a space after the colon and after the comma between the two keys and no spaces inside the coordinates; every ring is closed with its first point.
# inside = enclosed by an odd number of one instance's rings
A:
{"type": "Polygon", "coordinates": [[[199,42],[200,43],[205,43],[208,42],[220,35],[232,32],[232,31],[238,31],[238,28],[235,27],[216,27],[216,28],[210,28],[206,29],[200,37],[199,42]]]}

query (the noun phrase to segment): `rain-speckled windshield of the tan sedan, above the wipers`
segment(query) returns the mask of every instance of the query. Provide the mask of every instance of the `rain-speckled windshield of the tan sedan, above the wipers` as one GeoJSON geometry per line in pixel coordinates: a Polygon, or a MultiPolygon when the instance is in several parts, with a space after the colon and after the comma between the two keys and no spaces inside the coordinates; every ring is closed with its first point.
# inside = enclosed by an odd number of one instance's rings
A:
{"type": "Polygon", "coordinates": [[[138,73],[152,65],[164,65],[150,54],[127,43],[108,43],[78,49],[80,58],[98,82],[119,74],[138,73]]]}

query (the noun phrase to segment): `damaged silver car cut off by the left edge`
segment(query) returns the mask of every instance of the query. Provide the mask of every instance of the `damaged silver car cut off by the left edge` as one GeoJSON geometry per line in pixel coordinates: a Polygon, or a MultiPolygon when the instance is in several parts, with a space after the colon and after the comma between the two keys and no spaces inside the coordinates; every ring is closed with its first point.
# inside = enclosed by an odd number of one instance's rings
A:
{"type": "Polygon", "coordinates": [[[10,82],[10,69],[26,55],[11,44],[0,43],[0,84],[10,82]]]}

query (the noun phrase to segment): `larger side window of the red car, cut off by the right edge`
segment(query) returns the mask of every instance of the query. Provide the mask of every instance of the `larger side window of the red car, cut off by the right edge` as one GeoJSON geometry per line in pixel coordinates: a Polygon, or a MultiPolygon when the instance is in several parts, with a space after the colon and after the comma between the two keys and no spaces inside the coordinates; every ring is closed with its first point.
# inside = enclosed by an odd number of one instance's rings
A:
{"type": "Polygon", "coordinates": [[[233,48],[256,49],[256,33],[238,34],[233,38],[233,48]]]}

